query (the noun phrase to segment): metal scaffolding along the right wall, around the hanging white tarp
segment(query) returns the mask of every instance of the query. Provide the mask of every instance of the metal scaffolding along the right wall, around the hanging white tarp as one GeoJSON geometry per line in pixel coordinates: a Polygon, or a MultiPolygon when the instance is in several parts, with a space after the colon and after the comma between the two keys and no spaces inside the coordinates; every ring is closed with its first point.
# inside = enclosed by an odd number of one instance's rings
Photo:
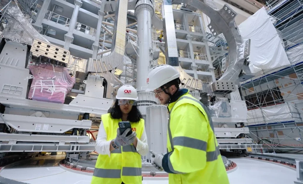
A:
{"type": "MultiPolygon", "coordinates": [[[[273,24],[286,53],[301,48],[303,1],[271,0],[265,9],[274,19],[273,24]]],[[[248,114],[252,115],[247,124],[251,138],[274,152],[298,153],[303,150],[303,53],[292,52],[288,58],[290,66],[264,72],[257,79],[243,82],[241,89],[248,114]],[[288,82],[280,83],[279,79],[288,82]],[[290,84],[291,90],[285,92],[284,88],[290,84]],[[269,111],[282,107],[283,111],[277,110],[275,115],[268,116],[269,111]]]]}

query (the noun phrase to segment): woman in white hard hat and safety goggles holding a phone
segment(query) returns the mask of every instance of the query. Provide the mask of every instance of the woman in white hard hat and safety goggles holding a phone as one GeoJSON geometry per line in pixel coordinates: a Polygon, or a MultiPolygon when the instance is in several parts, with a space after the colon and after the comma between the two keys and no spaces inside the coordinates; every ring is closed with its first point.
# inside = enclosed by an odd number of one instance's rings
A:
{"type": "Polygon", "coordinates": [[[144,120],[136,106],[137,91],[131,85],[118,89],[114,107],[101,116],[95,149],[99,153],[92,184],[142,183],[141,155],[148,153],[144,120]],[[121,133],[120,121],[129,121],[130,129],[121,133]]]}

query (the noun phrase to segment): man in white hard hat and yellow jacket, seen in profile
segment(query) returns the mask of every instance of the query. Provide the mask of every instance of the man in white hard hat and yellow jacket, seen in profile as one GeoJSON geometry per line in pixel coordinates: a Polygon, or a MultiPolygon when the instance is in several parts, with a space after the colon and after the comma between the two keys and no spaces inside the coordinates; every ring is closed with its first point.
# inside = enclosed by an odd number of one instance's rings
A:
{"type": "Polygon", "coordinates": [[[170,184],[228,184],[211,115],[188,89],[179,89],[179,77],[170,65],[155,66],[148,73],[148,91],[169,110],[168,153],[150,150],[152,164],[169,173],[170,184]]]}

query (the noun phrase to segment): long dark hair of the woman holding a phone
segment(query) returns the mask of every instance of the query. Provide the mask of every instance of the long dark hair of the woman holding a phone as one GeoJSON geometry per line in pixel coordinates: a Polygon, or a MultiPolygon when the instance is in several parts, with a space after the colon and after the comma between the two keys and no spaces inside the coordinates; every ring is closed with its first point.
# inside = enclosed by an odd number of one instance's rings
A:
{"type": "MultiPolygon", "coordinates": [[[[116,99],[115,105],[112,107],[110,113],[113,119],[122,118],[122,111],[118,105],[118,99],[116,99]]],[[[127,120],[130,122],[138,123],[140,119],[142,119],[142,115],[138,110],[137,105],[133,105],[132,110],[128,113],[127,120]]]]}

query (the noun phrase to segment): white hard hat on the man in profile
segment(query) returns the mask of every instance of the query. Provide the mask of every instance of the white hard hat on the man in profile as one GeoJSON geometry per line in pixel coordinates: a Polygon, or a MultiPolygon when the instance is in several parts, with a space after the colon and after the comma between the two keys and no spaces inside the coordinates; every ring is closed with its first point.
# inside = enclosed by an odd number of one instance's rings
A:
{"type": "Polygon", "coordinates": [[[158,65],[149,70],[146,83],[147,90],[153,91],[167,82],[180,77],[180,73],[170,65],[158,65]]]}

